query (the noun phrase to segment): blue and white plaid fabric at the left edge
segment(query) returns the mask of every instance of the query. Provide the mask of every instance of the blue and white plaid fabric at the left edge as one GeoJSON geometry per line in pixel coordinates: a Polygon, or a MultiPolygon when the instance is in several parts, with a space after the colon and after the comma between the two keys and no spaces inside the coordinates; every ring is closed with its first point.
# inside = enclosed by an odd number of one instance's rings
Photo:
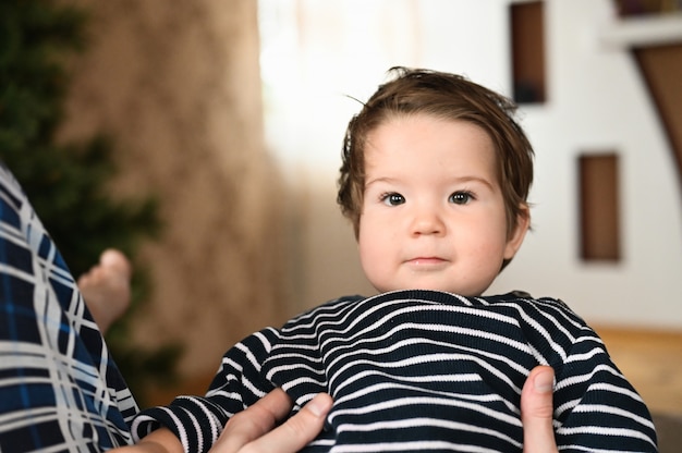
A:
{"type": "Polygon", "coordinates": [[[129,444],[137,412],[74,278],[0,164],[0,452],[129,444]]]}

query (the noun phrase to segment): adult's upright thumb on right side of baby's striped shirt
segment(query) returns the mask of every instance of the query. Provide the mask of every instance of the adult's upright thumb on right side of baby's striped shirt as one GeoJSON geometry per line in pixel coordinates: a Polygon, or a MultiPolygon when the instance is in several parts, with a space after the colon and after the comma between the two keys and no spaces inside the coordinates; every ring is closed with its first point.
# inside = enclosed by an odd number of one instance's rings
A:
{"type": "Polygon", "coordinates": [[[521,391],[521,423],[524,453],[556,453],[557,441],[552,427],[552,392],[555,370],[551,367],[533,368],[521,391]]]}

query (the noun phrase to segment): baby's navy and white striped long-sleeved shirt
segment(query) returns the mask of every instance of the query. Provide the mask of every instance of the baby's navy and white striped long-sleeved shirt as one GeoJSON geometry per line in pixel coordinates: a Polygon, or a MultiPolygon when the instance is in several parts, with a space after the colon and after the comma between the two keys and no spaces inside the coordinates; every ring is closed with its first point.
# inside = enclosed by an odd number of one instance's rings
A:
{"type": "Polygon", "coordinates": [[[562,452],[655,452],[640,395],[598,335],[561,301],[403,291],[342,297],[229,350],[206,396],[138,415],[141,438],[169,427],[207,451],[235,413],[275,387],[299,411],[334,405],[306,452],[521,452],[520,395],[536,365],[555,369],[562,452]]]}

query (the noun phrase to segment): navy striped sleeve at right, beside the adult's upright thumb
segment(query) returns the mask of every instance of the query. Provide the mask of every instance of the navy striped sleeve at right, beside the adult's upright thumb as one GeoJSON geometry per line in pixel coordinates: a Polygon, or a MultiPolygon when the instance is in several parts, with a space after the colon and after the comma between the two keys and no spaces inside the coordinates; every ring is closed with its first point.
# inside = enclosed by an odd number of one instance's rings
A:
{"type": "Polygon", "coordinates": [[[642,397],[584,329],[557,370],[555,431],[559,450],[656,452],[656,430],[642,397]]]}

